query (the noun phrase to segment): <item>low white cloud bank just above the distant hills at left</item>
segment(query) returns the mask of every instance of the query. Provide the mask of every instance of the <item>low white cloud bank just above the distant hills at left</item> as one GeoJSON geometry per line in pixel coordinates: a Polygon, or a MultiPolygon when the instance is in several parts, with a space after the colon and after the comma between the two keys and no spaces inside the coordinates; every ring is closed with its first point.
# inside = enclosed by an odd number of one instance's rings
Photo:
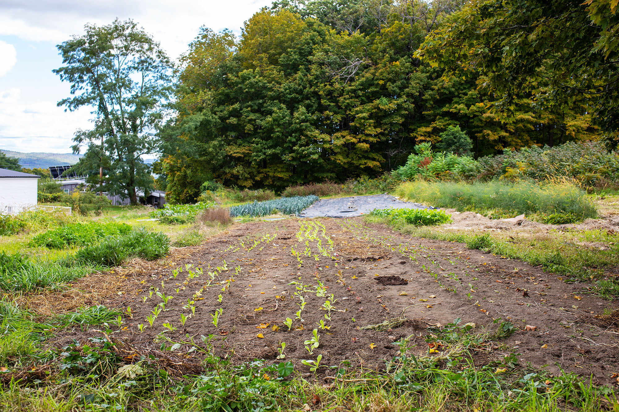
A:
{"type": "Polygon", "coordinates": [[[0,92],[0,148],[17,152],[71,152],[77,128],[90,127],[89,109],[65,112],[51,101],[20,104],[19,88],[0,92]]]}

